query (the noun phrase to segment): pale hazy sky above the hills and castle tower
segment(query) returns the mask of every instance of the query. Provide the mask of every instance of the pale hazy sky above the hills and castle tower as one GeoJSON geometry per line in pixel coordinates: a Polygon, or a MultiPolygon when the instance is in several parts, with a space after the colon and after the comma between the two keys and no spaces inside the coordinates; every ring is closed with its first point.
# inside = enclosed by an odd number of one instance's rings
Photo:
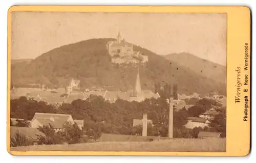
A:
{"type": "Polygon", "coordinates": [[[12,14],[12,59],[36,58],[91,38],[115,38],[158,55],[188,52],[226,65],[226,14],[54,13],[12,14]]]}

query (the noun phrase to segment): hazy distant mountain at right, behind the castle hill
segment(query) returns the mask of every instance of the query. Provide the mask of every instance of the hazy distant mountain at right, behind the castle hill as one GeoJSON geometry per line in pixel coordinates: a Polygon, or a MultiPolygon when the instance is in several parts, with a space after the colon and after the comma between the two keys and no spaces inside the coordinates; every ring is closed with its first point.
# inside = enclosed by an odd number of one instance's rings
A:
{"type": "Polygon", "coordinates": [[[226,84],[226,66],[198,58],[185,52],[173,53],[164,56],[164,58],[173,63],[182,65],[198,75],[226,84]]]}

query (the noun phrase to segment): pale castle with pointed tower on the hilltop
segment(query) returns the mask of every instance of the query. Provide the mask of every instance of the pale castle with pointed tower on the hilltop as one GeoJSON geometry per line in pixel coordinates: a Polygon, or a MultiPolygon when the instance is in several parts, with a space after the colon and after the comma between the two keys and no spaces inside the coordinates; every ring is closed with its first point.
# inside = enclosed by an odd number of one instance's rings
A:
{"type": "Polygon", "coordinates": [[[111,56],[111,61],[117,64],[129,63],[147,63],[148,57],[142,55],[140,51],[134,51],[133,44],[126,42],[122,39],[120,32],[116,41],[109,41],[106,48],[111,56]]]}

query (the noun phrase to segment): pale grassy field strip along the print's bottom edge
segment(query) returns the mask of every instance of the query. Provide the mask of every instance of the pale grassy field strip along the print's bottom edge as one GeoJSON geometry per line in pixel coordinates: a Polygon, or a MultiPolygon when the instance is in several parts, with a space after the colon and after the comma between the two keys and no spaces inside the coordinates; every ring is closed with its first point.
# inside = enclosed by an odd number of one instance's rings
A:
{"type": "Polygon", "coordinates": [[[175,151],[225,152],[226,139],[169,139],[152,142],[97,142],[72,145],[12,147],[11,151],[175,151]]]}

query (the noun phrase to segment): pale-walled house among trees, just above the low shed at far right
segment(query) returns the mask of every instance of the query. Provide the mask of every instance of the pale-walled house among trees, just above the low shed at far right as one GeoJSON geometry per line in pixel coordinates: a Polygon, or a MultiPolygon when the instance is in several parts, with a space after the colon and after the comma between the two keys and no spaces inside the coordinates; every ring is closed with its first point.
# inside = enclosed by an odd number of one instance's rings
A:
{"type": "Polygon", "coordinates": [[[188,117],[187,118],[187,124],[185,124],[184,126],[186,128],[190,128],[193,129],[195,127],[209,127],[211,121],[204,119],[204,118],[198,118],[198,117],[188,117]]]}

